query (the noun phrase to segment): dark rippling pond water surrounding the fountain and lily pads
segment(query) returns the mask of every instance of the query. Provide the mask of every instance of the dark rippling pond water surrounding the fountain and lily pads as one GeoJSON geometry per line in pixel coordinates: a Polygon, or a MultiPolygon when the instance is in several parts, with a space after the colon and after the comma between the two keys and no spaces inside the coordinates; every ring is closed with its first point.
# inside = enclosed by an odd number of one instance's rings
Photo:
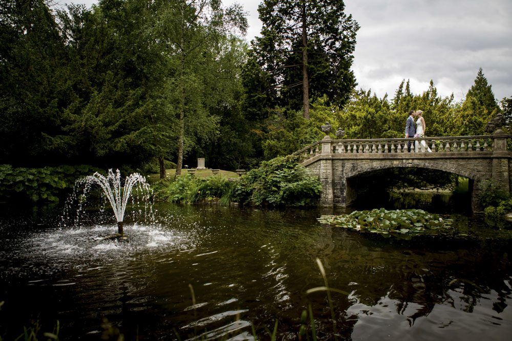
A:
{"type": "Polygon", "coordinates": [[[125,221],[127,242],[101,240],[117,230],[106,213],[62,228],[60,211],[2,209],[0,336],[58,320],[62,340],[100,340],[106,318],[127,340],[252,339],[252,327],[269,339],[275,321],[278,339],[297,339],[309,304],[319,339],[512,335],[512,234],[479,218],[407,240],[316,222],[330,210],[156,209],[155,223],[125,221]],[[324,285],[316,258],[348,293],[331,293],[334,321],[326,293],[306,293],[324,285]]]}

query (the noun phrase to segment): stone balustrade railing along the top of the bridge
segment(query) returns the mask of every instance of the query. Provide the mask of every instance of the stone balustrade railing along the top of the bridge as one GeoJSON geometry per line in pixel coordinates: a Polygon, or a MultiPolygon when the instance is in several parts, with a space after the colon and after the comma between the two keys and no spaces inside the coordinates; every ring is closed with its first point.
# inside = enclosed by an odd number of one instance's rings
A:
{"type": "MultiPolygon", "coordinates": [[[[303,161],[307,161],[321,154],[340,154],[338,157],[354,156],[353,154],[399,154],[408,152],[408,143],[411,143],[411,151],[414,151],[415,142],[418,143],[418,151],[423,153],[478,153],[504,151],[507,152],[507,140],[510,135],[475,135],[456,137],[421,137],[411,139],[357,139],[357,140],[332,140],[326,136],[324,140],[315,142],[294,154],[301,155],[303,161]]],[[[369,156],[369,155],[368,155],[369,156]]]]}

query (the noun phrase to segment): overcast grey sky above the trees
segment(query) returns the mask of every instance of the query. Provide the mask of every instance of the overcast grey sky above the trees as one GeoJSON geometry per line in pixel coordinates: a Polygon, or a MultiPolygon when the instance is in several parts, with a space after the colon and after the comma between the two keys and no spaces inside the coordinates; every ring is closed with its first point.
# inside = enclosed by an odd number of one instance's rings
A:
{"type": "MultiPolygon", "coordinates": [[[[248,41],[260,33],[261,0],[222,2],[244,7],[248,41]]],[[[345,6],[361,27],[352,67],[358,87],[392,98],[402,79],[415,94],[432,79],[441,96],[460,100],[482,67],[498,101],[512,96],[512,0],[345,0],[345,6]]]]}

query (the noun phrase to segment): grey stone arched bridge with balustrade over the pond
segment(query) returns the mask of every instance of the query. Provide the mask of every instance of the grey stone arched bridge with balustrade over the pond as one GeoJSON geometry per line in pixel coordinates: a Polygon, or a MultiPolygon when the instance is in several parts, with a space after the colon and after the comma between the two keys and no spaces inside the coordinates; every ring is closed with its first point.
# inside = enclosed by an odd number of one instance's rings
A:
{"type": "Polygon", "coordinates": [[[348,206],[357,196],[355,177],[398,167],[437,169],[470,179],[472,209],[482,211],[481,194],[489,188],[510,193],[512,138],[498,129],[492,135],[416,139],[333,140],[328,135],[295,154],[322,181],[323,206],[348,206]],[[414,143],[418,142],[418,151],[414,143]],[[408,152],[407,143],[412,142],[408,152]],[[430,150],[426,148],[428,146],[430,150]]]}

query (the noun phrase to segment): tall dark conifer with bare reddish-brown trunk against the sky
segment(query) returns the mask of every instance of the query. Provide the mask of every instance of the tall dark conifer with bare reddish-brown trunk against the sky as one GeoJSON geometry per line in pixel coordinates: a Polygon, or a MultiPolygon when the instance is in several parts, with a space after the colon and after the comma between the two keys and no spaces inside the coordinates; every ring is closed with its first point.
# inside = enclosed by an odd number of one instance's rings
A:
{"type": "Polygon", "coordinates": [[[298,109],[297,99],[302,98],[306,119],[310,98],[325,94],[343,105],[356,84],[350,67],[359,29],[344,10],[342,0],[264,0],[258,8],[261,37],[253,41],[249,63],[262,80],[256,85],[266,88],[249,93],[275,96],[291,109],[298,109]]]}

